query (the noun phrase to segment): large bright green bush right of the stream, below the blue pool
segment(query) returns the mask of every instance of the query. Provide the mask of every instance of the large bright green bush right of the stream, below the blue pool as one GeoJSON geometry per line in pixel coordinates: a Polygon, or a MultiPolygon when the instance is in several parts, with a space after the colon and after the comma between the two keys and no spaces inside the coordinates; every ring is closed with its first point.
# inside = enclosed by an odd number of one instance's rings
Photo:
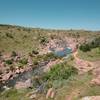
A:
{"type": "Polygon", "coordinates": [[[43,76],[44,80],[63,80],[77,74],[77,69],[73,66],[61,63],[53,66],[51,70],[43,76]]]}

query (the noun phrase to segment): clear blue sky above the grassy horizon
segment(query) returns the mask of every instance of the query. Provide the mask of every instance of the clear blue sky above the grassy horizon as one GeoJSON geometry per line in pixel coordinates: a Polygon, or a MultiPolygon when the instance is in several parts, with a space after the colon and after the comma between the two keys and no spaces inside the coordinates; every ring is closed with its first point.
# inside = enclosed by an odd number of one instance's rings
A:
{"type": "Polygon", "coordinates": [[[0,0],[0,24],[100,30],[100,0],[0,0]]]}

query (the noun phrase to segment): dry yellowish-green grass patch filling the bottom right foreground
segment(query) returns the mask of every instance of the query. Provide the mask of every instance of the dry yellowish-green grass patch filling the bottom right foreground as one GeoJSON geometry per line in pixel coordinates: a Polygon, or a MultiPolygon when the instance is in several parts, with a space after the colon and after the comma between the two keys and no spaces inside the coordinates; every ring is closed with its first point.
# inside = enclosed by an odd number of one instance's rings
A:
{"type": "Polygon", "coordinates": [[[55,100],[65,100],[66,97],[71,96],[72,100],[80,100],[84,96],[100,95],[100,86],[91,86],[90,80],[92,75],[76,75],[65,81],[63,87],[57,90],[55,100]]]}

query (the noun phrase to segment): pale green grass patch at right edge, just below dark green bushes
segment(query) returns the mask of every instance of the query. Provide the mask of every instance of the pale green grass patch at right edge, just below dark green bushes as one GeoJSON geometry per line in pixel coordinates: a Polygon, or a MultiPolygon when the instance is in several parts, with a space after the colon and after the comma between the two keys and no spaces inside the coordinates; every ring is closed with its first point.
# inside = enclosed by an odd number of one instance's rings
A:
{"type": "Polygon", "coordinates": [[[78,56],[88,61],[100,60],[100,48],[95,48],[88,52],[82,52],[79,50],[78,56]]]}

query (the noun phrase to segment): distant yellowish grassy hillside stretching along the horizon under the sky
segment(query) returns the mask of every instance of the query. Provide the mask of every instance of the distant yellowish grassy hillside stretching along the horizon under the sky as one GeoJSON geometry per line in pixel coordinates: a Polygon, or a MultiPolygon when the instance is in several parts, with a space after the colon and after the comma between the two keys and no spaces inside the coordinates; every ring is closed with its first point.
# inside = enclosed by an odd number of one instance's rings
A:
{"type": "Polygon", "coordinates": [[[41,28],[27,28],[0,24],[0,51],[29,53],[41,47],[40,41],[45,37],[51,38],[89,38],[100,35],[100,32],[85,30],[49,30],[41,28]]]}

